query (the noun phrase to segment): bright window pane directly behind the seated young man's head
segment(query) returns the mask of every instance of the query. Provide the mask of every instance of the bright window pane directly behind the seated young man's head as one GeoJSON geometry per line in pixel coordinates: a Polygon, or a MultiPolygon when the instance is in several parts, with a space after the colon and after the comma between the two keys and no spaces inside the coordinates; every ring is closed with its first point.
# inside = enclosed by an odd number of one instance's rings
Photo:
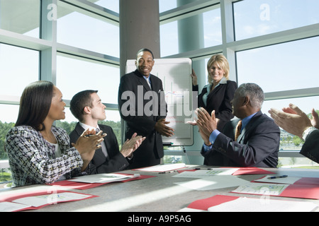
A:
{"type": "Polygon", "coordinates": [[[65,100],[71,100],[73,95],[82,90],[99,90],[102,102],[117,105],[118,84],[118,67],[57,56],[57,88],[65,100]]]}

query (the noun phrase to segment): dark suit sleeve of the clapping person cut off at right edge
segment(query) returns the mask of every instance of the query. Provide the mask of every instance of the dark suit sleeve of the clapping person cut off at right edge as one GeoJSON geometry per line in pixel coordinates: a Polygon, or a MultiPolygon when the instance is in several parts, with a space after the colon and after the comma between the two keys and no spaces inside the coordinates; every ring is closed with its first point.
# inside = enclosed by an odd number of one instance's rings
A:
{"type": "Polygon", "coordinates": [[[300,153],[319,163],[319,130],[312,131],[306,138],[300,153]]]}

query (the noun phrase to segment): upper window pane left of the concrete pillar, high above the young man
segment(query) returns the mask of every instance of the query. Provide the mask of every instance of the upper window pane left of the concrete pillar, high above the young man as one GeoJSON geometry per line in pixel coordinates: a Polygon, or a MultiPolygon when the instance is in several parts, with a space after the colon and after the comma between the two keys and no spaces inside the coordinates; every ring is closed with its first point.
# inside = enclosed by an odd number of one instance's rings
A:
{"type": "Polygon", "coordinates": [[[65,8],[65,4],[58,4],[57,11],[64,12],[65,16],[57,19],[57,42],[119,57],[119,27],[76,10],[75,7],[65,8]]]}

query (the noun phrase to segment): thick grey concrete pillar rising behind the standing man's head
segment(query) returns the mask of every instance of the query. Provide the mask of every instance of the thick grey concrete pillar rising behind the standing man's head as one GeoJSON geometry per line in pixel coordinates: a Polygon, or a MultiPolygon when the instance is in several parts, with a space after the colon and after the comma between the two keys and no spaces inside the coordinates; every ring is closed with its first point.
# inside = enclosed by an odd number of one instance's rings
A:
{"type": "Polygon", "coordinates": [[[159,0],[120,0],[120,73],[142,48],[160,57],[159,0]]]}

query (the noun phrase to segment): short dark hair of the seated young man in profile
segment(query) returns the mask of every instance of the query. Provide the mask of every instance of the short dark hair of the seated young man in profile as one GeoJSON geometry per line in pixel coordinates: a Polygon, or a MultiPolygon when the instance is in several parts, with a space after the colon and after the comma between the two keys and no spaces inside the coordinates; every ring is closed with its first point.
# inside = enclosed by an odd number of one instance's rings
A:
{"type": "Polygon", "coordinates": [[[97,90],[83,90],[72,97],[69,109],[79,121],[83,121],[84,107],[92,106],[91,94],[98,93],[97,90]]]}

